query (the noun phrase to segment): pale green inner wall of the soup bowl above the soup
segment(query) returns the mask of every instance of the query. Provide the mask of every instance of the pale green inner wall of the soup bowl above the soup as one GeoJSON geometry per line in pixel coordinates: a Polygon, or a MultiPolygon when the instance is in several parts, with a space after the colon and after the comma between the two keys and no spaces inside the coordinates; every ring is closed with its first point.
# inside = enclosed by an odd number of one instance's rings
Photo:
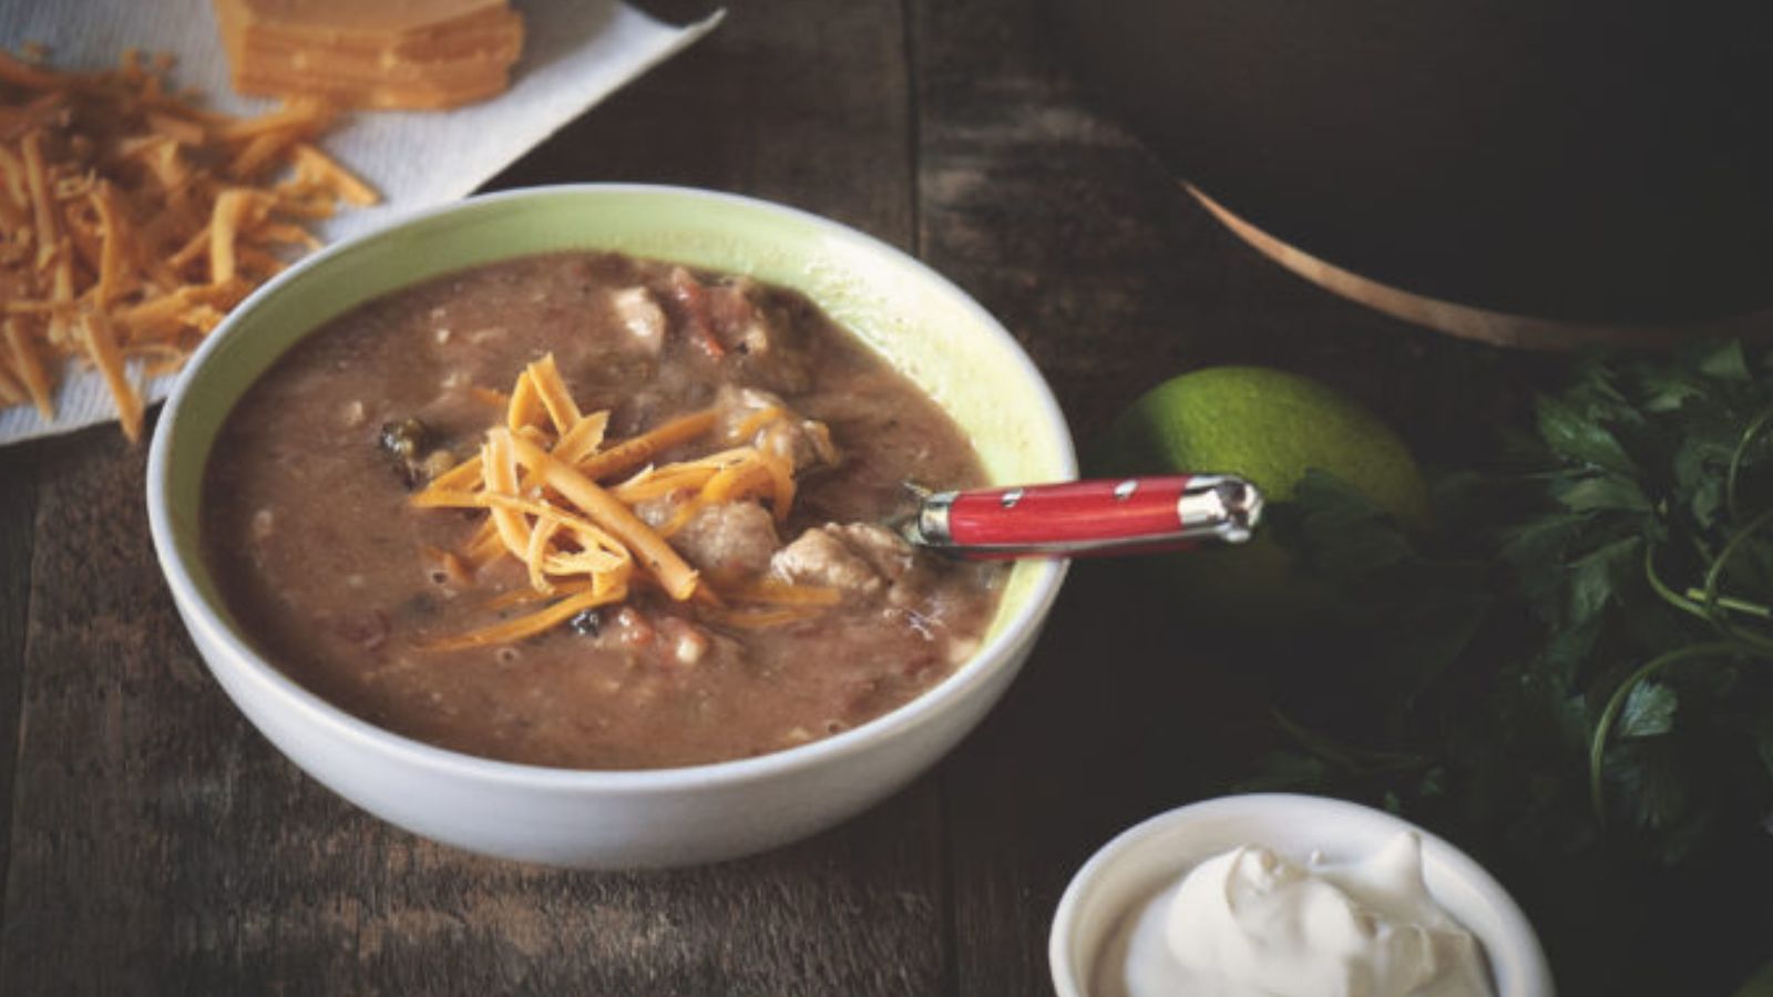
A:
{"type": "MultiPolygon", "coordinates": [[[[766,204],[649,188],[562,188],[472,200],[316,259],[239,309],[191,374],[170,444],[177,545],[204,598],[225,614],[195,523],[209,444],[246,387],[298,339],[388,291],[514,255],[619,250],[748,273],[796,287],[922,385],[972,436],[996,483],[1066,479],[1071,440],[1021,357],[952,286],[872,239],[766,204]]],[[[1032,596],[1018,564],[1002,626],[1032,596]]]]}

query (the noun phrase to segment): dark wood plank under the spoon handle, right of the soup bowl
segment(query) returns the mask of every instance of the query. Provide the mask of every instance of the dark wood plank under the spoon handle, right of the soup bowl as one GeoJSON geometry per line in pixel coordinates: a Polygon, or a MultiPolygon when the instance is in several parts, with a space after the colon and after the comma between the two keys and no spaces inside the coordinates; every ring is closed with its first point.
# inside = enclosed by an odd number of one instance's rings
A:
{"type": "MultiPolygon", "coordinates": [[[[918,248],[1027,346],[1085,454],[1142,390],[1209,364],[1335,383],[1420,454],[1489,431],[1447,399],[1521,403],[1532,360],[1342,302],[1223,231],[1094,110],[1035,7],[911,4],[918,248]]],[[[1048,990],[1071,873],[1131,823],[1220,791],[1271,736],[1269,674],[1202,644],[1177,593],[1112,562],[1074,569],[1027,672],[943,770],[957,993],[1048,990]]]]}

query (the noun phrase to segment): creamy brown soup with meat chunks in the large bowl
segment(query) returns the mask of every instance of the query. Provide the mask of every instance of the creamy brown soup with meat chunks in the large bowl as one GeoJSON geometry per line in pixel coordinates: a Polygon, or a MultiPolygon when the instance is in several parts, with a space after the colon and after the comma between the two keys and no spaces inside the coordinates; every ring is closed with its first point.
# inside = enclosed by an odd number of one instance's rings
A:
{"type": "MultiPolygon", "coordinates": [[[[619,475],[621,477],[621,475],[619,475]]],[[[954,422],[803,296],[615,254],[518,259],[358,307],[282,357],[209,459],[209,562],[250,640],[381,727],[566,768],[755,756],[853,727],[977,648],[996,568],[911,552],[881,523],[902,481],[984,481],[954,422]],[[484,511],[418,509],[470,459],[525,365],[551,353],[610,444],[718,412],[670,461],[754,442],[785,454],[785,520],[757,498],[699,507],[670,545],[700,578],[837,593],[773,624],[635,585],[619,605],[516,642],[436,649],[546,603],[514,557],[461,571],[484,511]],[[761,429],[769,406],[796,413],[761,429]],[[743,438],[741,438],[743,436],[743,438]]],[[[610,483],[605,483],[610,484],[610,483]]],[[[663,525],[688,495],[633,504],[663,525]]]]}

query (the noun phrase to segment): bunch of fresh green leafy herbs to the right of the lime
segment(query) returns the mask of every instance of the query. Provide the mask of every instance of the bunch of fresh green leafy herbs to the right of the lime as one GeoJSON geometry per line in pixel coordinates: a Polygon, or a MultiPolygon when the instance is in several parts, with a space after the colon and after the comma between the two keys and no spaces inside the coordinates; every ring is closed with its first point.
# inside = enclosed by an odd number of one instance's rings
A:
{"type": "Polygon", "coordinates": [[[1323,474],[1275,507],[1347,626],[1245,788],[1385,802],[1546,903],[1769,867],[1773,353],[1590,358],[1532,429],[1429,536],[1323,474]]]}

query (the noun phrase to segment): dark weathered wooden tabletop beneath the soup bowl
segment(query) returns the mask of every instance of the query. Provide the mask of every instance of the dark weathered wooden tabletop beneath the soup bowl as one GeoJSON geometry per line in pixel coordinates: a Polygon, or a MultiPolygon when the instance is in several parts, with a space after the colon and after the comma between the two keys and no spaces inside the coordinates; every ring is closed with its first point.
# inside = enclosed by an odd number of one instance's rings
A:
{"type": "MultiPolygon", "coordinates": [[[[1090,108],[1028,0],[736,5],[493,186],[613,179],[911,250],[1016,334],[1082,445],[1168,374],[1261,362],[1452,459],[1535,364],[1236,241],[1090,108]]],[[[0,993],[1046,993],[1083,859],[1269,736],[1186,610],[1092,564],[986,724],[832,832],[667,873],[477,859],[365,816],[241,718],[154,564],[144,463],[112,428],[0,451],[0,993]]]]}

